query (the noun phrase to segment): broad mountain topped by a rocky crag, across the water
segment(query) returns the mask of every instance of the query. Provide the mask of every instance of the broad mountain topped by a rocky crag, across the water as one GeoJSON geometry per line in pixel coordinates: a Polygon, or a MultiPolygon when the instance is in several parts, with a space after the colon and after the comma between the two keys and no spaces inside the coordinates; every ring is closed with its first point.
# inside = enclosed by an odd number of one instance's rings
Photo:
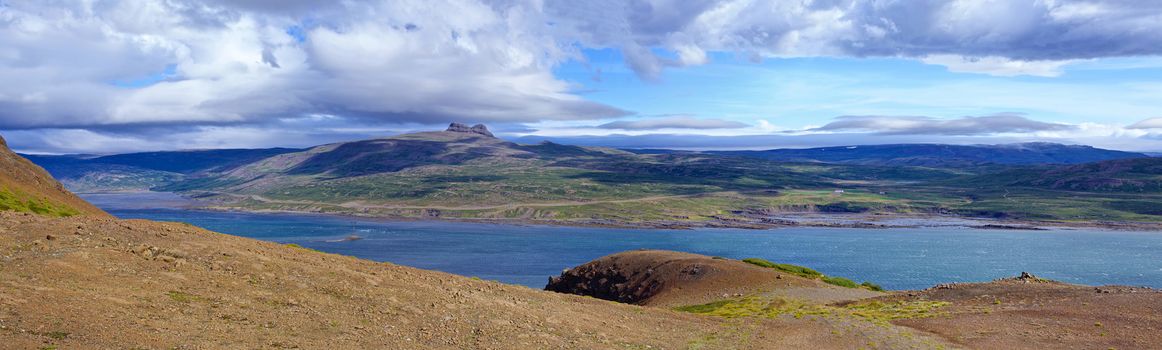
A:
{"type": "MultiPolygon", "coordinates": [[[[462,215],[564,214],[555,206],[779,188],[827,187],[838,180],[927,180],[956,176],[910,167],[798,165],[697,152],[633,153],[553,142],[517,144],[483,126],[452,124],[444,131],[343,142],[275,155],[223,172],[187,176],[160,191],[237,200],[242,206],[294,210],[380,210],[418,215],[421,208],[462,208],[462,215]],[[536,213],[510,213],[535,205],[536,213]],[[471,209],[469,209],[471,208],[471,209]],[[413,212],[408,212],[413,210],[413,212]],[[468,210],[476,210],[471,212],[468,210]],[[485,210],[485,212],[480,212],[485,210]]],[[[727,199],[705,199],[726,201],[727,199]]],[[[729,199],[734,200],[734,199],[729,199]]],[[[701,206],[701,203],[700,203],[701,206]]],[[[646,206],[661,212],[662,206],[646,206]]],[[[583,210],[582,210],[583,209],[583,210]]],[[[688,217],[681,208],[670,214],[688,217]]],[[[711,213],[706,210],[705,213],[711,213]]],[[[402,213],[402,214],[401,214],[402,213]]],[[[614,213],[614,212],[610,212],[614,213]]],[[[640,215],[637,215],[640,216],[640,215]]]]}

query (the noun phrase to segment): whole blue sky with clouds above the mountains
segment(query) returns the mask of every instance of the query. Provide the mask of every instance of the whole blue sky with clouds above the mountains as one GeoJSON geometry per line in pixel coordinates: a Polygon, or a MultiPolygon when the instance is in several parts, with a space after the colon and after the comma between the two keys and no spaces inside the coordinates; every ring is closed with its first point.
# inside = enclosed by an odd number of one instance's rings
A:
{"type": "Polygon", "coordinates": [[[1154,0],[0,0],[0,135],[1162,151],[1160,55],[1154,0]]]}

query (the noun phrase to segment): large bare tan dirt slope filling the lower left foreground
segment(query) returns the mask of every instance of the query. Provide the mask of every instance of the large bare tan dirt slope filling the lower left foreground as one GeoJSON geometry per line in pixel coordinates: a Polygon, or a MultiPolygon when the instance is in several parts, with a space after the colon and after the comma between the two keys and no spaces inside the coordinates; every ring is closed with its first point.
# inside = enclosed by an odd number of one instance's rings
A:
{"type": "Polygon", "coordinates": [[[180,223],[0,212],[5,349],[858,349],[809,319],[733,322],[180,223]]]}

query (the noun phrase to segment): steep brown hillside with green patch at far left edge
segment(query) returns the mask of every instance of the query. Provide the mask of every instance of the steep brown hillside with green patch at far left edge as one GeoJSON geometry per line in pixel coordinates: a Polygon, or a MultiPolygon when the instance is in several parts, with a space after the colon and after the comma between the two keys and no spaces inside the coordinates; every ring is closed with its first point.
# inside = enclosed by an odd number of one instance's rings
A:
{"type": "Polygon", "coordinates": [[[0,210],[50,216],[107,215],[65,190],[44,169],[14,153],[0,137],[0,210]]]}

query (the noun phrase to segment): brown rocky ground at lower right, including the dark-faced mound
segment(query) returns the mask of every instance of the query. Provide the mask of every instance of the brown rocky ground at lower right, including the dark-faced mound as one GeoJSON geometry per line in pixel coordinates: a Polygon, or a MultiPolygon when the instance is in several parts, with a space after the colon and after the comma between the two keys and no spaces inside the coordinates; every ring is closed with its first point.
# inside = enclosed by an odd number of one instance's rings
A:
{"type": "Polygon", "coordinates": [[[1021,273],[873,293],[770,274],[776,273],[737,260],[631,251],[565,271],[546,290],[739,322],[813,320],[837,334],[860,334],[871,349],[1162,349],[1162,292],[1150,288],[1070,285],[1021,273]]]}

